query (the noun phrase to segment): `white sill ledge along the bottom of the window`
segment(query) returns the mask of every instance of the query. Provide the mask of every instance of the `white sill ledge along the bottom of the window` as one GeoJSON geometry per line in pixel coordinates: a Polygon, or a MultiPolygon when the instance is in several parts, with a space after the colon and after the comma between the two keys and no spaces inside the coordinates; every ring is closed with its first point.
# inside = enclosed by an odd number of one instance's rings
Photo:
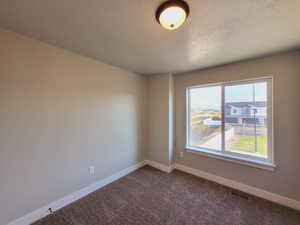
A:
{"type": "Polygon", "coordinates": [[[240,156],[234,156],[234,155],[229,155],[223,152],[214,152],[214,151],[209,151],[206,149],[201,149],[201,148],[193,148],[193,147],[186,147],[185,148],[187,152],[202,155],[202,156],[207,156],[215,159],[221,159],[229,162],[234,162],[246,166],[251,166],[251,167],[256,167],[259,169],[265,169],[265,170],[270,170],[274,171],[276,168],[276,165],[273,163],[269,162],[263,162],[255,159],[249,159],[245,157],[240,157],[240,156]]]}

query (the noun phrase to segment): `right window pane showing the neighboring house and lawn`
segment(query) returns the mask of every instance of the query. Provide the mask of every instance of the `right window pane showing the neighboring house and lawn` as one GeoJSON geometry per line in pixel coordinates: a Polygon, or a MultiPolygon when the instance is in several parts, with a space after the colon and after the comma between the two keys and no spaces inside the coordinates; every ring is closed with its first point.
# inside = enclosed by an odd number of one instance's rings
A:
{"type": "Polygon", "coordinates": [[[267,157],[267,83],[225,86],[225,150],[267,157]]]}

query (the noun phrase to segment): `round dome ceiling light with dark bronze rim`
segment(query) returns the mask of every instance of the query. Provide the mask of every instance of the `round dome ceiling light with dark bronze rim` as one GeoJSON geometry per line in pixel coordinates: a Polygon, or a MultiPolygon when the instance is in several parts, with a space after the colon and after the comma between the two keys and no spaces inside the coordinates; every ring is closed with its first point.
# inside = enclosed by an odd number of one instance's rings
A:
{"type": "Polygon", "coordinates": [[[156,11],[156,20],[167,30],[179,28],[190,13],[189,5],[183,0],[168,0],[156,11]]]}

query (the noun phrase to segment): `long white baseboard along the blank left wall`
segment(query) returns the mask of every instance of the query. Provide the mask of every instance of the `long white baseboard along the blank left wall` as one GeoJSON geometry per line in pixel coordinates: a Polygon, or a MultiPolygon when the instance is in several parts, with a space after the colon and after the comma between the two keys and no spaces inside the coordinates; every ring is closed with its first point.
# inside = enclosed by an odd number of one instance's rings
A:
{"type": "Polygon", "coordinates": [[[16,219],[10,223],[8,223],[7,225],[29,225],[29,224],[32,224],[34,223],[35,221],[39,220],[39,219],[42,219],[43,217],[49,215],[49,212],[48,212],[48,209],[49,208],[52,208],[53,211],[56,211],[58,209],[61,209],[63,207],[65,207],[66,205],[69,205],[71,204],[72,202],[96,191],[97,189],[107,185],[107,184],[110,184],[112,183],[113,181],[115,180],[118,180],[119,178],[123,177],[123,176],[126,176],[127,174],[143,167],[144,165],[146,165],[146,162],[145,161],[142,161],[138,164],[135,164],[133,166],[130,166],[126,169],[123,169],[121,170],[120,172],[118,173],[115,173],[113,174],[112,176],[110,177],[107,177],[101,181],[98,181],[94,184],[91,184],[89,185],[88,187],[85,187],[79,191],[76,191],[72,194],[69,194],[55,202],[52,202],[40,209],[37,209],[19,219],[16,219]]]}

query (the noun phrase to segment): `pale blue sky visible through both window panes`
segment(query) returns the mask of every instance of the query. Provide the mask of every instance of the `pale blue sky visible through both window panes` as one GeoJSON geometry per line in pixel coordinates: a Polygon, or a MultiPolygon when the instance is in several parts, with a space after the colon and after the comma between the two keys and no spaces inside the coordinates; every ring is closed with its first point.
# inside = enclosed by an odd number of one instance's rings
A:
{"type": "MultiPolygon", "coordinates": [[[[225,87],[225,102],[251,102],[267,100],[267,83],[243,84],[225,87]],[[255,92],[253,92],[253,87],[255,92]],[[255,93],[255,99],[254,94],[255,93]]],[[[195,108],[220,108],[221,87],[195,88],[191,90],[191,106],[195,108]]]]}

